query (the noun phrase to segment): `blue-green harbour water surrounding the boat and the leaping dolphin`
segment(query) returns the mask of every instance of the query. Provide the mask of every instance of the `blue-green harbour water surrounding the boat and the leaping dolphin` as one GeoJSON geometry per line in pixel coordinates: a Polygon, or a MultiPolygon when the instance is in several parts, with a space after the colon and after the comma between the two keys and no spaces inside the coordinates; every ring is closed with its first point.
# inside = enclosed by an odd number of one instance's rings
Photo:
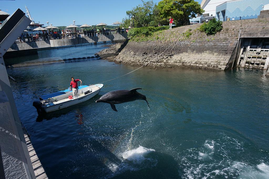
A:
{"type": "Polygon", "coordinates": [[[49,178],[268,178],[262,71],[141,68],[105,82],[84,103],[43,117],[32,106],[38,98],[28,89],[42,95],[68,88],[71,76],[94,84],[136,68],[89,60],[8,69],[18,81],[10,82],[20,120],[49,178]],[[95,103],[132,88],[142,88],[150,109],[142,100],[118,104],[118,112],[95,103]]]}

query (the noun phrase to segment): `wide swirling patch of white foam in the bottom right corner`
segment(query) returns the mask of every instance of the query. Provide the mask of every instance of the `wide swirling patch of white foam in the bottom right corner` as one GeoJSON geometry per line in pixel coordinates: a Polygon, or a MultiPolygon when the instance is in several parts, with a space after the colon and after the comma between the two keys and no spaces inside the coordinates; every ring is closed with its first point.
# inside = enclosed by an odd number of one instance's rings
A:
{"type": "Polygon", "coordinates": [[[244,142],[222,134],[219,139],[208,139],[197,148],[186,149],[181,159],[182,178],[269,179],[267,161],[249,164],[233,160],[244,147],[244,142]]]}

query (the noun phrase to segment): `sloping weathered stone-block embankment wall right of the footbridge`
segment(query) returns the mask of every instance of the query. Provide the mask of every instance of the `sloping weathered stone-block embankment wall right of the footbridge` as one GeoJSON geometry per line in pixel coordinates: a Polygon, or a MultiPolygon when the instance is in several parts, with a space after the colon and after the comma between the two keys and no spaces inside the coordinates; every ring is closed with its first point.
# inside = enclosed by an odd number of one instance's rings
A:
{"type": "Polygon", "coordinates": [[[129,41],[114,61],[129,65],[144,65],[151,61],[148,66],[227,70],[236,60],[234,55],[238,51],[240,28],[240,38],[269,37],[268,18],[223,22],[223,29],[209,36],[198,30],[200,25],[164,30],[158,35],[158,40],[129,41]]]}

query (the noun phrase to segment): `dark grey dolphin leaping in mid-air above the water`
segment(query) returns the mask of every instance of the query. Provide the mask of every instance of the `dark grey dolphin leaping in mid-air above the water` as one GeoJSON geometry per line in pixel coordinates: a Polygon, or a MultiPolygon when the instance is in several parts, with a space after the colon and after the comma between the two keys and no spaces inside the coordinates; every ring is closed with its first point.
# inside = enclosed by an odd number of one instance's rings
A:
{"type": "MultiPolygon", "coordinates": [[[[95,102],[103,102],[111,105],[111,108],[118,112],[116,106],[114,104],[121,104],[129,101],[135,101],[138,99],[145,100],[148,104],[146,96],[140,94],[136,90],[141,90],[142,88],[134,88],[132,90],[116,90],[108,92],[101,96],[101,98],[97,99],[95,102]]],[[[150,108],[150,105],[148,104],[150,108]]]]}

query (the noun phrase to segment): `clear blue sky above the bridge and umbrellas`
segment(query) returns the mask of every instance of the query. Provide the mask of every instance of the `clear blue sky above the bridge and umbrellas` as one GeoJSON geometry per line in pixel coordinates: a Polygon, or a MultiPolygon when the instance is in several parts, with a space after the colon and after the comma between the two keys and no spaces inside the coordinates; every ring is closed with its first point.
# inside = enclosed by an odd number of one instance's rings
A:
{"type": "MultiPolygon", "coordinates": [[[[145,0],[147,1],[147,0],[145,0]]],[[[158,3],[160,0],[153,0],[158,3]]],[[[202,0],[196,0],[201,3],[202,0]]],[[[29,9],[30,15],[35,23],[53,26],[68,26],[98,23],[112,25],[115,21],[122,21],[127,17],[126,11],[142,4],[141,0],[0,0],[0,9],[9,14],[13,14],[17,8],[26,13],[25,5],[29,9]]]]}

